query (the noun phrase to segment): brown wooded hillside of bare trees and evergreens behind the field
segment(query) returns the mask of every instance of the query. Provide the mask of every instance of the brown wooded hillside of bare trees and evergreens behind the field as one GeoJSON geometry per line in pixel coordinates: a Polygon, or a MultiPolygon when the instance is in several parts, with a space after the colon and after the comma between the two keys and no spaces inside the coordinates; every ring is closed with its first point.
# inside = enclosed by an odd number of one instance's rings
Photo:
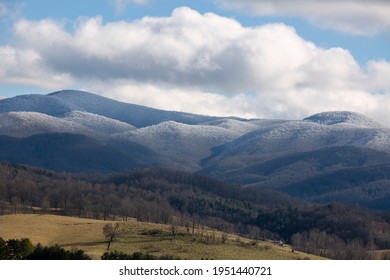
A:
{"type": "MultiPolygon", "coordinates": [[[[364,252],[390,248],[390,212],[307,204],[275,191],[229,185],[194,173],[146,169],[72,175],[9,164],[2,164],[0,173],[0,214],[43,211],[105,220],[135,217],[187,227],[202,224],[300,247],[302,236],[317,242],[313,237],[317,233],[325,240],[321,246],[337,244],[328,249],[341,253],[351,250],[350,244],[364,252]]],[[[322,254],[330,254],[328,249],[322,254]]]]}

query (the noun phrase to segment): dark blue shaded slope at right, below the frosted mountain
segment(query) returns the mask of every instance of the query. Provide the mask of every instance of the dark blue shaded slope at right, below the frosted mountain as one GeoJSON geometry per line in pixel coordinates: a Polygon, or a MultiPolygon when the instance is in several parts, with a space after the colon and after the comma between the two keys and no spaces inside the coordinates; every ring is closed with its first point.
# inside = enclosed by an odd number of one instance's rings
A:
{"type": "Polygon", "coordinates": [[[241,168],[210,166],[202,174],[311,202],[390,205],[390,153],[352,146],[283,155],[241,168]]]}

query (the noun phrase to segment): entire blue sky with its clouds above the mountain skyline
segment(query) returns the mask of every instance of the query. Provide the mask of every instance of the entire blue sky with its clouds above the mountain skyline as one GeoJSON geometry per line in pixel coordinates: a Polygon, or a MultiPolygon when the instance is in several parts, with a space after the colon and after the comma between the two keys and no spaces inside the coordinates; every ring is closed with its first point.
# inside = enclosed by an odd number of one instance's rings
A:
{"type": "Polygon", "coordinates": [[[388,0],[0,0],[0,96],[390,125],[388,0]]]}

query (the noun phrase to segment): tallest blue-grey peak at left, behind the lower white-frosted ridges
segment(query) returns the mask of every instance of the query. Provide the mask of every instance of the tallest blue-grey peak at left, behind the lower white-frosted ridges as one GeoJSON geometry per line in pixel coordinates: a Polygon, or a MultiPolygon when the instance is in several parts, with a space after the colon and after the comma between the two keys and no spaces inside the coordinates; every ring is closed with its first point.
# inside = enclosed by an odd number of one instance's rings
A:
{"type": "Polygon", "coordinates": [[[186,124],[198,124],[218,119],[216,117],[152,109],[75,90],[63,90],[48,95],[21,95],[0,100],[0,112],[20,111],[38,112],[51,116],[62,116],[72,111],[81,111],[122,121],[136,127],[145,127],[169,120],[186,124]]]}

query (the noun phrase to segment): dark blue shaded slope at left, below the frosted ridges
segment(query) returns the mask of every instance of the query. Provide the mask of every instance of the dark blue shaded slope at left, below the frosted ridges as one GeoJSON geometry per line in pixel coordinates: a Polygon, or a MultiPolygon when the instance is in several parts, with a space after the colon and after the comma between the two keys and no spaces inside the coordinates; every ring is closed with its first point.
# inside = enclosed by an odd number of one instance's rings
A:
{"type": "Polygon", "coordinates": [[[0,136],[2,161],[65,172],[117,172],[156,164],[153,152],[147,153],[146,148],[137,144],[133,144],[133,148],[135,156],[130,157],[84,135],[0,136]]]}

